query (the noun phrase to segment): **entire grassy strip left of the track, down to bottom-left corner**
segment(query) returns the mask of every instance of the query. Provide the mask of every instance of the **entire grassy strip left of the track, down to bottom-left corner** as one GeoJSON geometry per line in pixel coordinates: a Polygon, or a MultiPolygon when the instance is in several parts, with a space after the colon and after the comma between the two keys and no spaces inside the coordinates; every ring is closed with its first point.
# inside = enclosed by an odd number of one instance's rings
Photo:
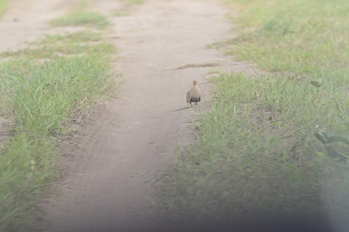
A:
{"type": "Polygon", "coordinates": [[[9,135],[0,146],[0,231],[25,225],[59,176],[57,138],[73,135],[78,117],[112,91],[115,50],[101,34],[81,31],[0,54],[0,117],[9,135]]]}

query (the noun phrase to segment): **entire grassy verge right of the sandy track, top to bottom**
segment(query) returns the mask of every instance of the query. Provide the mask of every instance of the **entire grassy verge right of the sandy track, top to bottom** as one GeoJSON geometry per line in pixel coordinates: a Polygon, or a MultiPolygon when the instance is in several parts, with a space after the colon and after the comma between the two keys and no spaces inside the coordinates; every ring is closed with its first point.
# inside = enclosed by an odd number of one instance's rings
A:
{"type": "Polygon", "coordinates": [[[349,135],[349,2],[225,3],[239,34],[213,46],[256,73],[208,79],[215,95],[157,186],[159,208],[182,223],[303,218],[346,231],[349,164],[331,155],[349,150],[314,133],[349,135]]]}

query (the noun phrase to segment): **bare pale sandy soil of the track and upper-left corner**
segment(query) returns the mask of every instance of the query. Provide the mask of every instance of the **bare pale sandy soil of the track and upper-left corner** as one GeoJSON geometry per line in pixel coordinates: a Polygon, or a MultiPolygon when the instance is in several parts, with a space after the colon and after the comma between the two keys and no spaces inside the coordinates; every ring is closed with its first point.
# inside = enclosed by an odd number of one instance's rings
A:
{"type": "MultiPolygon", "coordinates": [[[[14,0],[0,21],[7,32],[0,50],[52,31],[47,21],[76,2],[14,0]]],[[[120,7],[107,0],[95,4],[103,12],[120,7]]],[[[59,164],[65,174],[60,182],[68,184],[40,205],[45,216],[38,228],[45,231],[137,231],[158,224],[152,184],[170,168],[177,143],[193,142],[187,119],[203,110],[212,88],[203,76],[213,68],[252,72],[206,46],[233,36],[223,17],[229,10],[219,1],[149,0],[128,10],[128,16],[110,18],[107,32],[118,47],[112,69],[126,82],[117,99],[82,118],[79,135],[65,138],[70,149],[59,164]],[[203,100],[194,110],[185,103],[193,79],[203,100]]]]}

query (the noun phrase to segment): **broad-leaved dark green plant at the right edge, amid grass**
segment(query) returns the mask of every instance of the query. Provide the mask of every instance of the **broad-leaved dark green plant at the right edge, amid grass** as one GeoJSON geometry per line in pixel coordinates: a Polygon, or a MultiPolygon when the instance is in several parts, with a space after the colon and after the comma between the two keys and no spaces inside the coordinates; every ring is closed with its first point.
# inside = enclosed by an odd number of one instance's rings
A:
{"type": "MultiPolygon", "coordinates": [[[[318,127],[318,126],[317,126],[318,127]]],[[[315,137],[325,144],[328,154],[335,158],[335,160],[344,161],[349,158],[349,140],[344,136],[335,136],[333,132],[325,129],[319,130],[315,133],[315,137]]]]}

